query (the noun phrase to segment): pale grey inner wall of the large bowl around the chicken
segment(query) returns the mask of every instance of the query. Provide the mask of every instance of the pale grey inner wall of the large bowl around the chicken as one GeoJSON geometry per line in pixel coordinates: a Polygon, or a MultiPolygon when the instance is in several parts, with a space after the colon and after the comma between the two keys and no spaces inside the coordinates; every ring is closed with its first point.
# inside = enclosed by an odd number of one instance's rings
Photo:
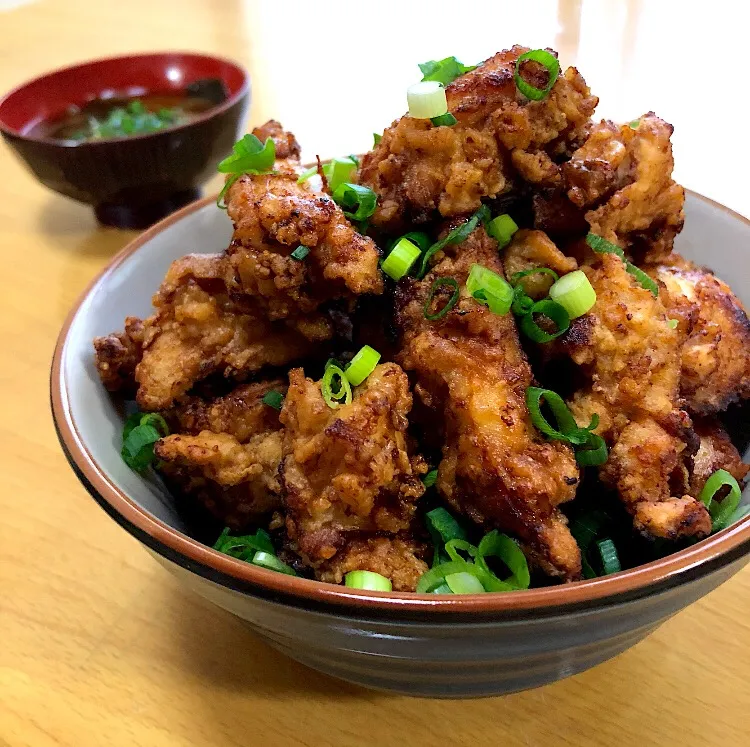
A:
{"type": "MultiPolygon", "coordinates": [[[[685,230],[677,240],[677,249],[710,266],[750,306],[750,225],[692,193],[685,212],[685,230]]],[[[66,417],[92,460],[133,502],[180,532],[187,532],[188,527],[174,499],[158,480],[142,478],[120,458],[123,415],[99,381],[91,341],[122,329],[126,316],[147,316],[151,296],[173,260],[189,252],[223,251],[231,233],[226,213],[213,202],[187,208],[151,229],[135,251],[126,249],[95,282],[70,324],[61,354],[66,417]]],[[[743,502],[750,502],[750,488],[745,490],[743,502]]]]}

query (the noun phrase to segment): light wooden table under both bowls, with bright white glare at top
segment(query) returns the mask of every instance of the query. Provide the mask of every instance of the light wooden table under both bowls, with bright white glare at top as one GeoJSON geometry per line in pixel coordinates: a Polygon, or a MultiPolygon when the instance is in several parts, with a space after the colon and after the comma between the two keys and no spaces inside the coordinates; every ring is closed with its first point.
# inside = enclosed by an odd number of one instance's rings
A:
{"type": "MultiPolygon", "coordinates": [[[[83,58],[220,52],[253,75],[251,123],[277,117],[307,157],[330,156],[369,147],[403,111],[418,61],[550,45],[602,115],[673,122],[678,178],[750,214],[746,30],[731,3],[507,5],[0,0],[0,91],[83,58]]],[[[0,175],[2,747],[750,744],[750,569],[614,661],[473,702],[334,681],[183,591],[78,484],[48,407],[62,320],[134,234],[97,226],[6,148],[0,175]]]]}

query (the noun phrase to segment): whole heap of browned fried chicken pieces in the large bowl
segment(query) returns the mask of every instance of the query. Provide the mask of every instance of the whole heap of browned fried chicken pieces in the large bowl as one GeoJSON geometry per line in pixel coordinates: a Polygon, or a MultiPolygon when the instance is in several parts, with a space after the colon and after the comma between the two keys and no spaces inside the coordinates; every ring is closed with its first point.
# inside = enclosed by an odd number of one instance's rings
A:
{"type": "MultiPolygon", "coordinates": [[[[369,570],[413,591],[431,554],[420,504],[431,467],[451,510],[516,538],[537,572],[579,579],[560,506],[582,470],[568,444],[537,431],[525,401],[542,377],[556,388],[557,367],[574,373],[564,396],[578,424],[597,414],[609,449],[586,479],[616,492],[635,532],[707,536],[706,479],[721,468],[742,481],[750,469],[717,419],[750,396],[750,322],[725,283],[673,250],[685,195],[671,176],[671,125],[652,112],[594,121],[598,99],[575,68],[527,100],[514,82],[526,51],[447,86],[454,126],[403,116],[385,130],[354,179],[378,197],[368,235],[325,180],[298,182],[291,133],[274,121],[254,130],[277,160],[228,190],[227,250],[174,262],[152,316],[94,341],[104,385],[169,424],[155,453],[175,495],[235,532],[270,527],[281,557],[318,580],[369,570]],[[423,279],[384,276],[394,238],[444,236],[482,204],[522,226],[502,251],[480,224],[423,279]],[[658,295],[616,255],[593,252],[589,232],[621,247],[658,295]],[[300,245],[303,261],[291,256],[300,245]],[[442,319],[425,318],[435,280],[463,288],[473,264],[508,279],[581,269],[597,300],[543,344],[522,344],[512,314],[465,290],[442,319]],[[382,362],[350,404],[331,408],[316,380],[325,360],[365,343],[382,362]],[[284,395],[280,411],[263,403],[271,391],[284,395]]],[[[523,280],[532,298],[551,282],[523,280]]]]}

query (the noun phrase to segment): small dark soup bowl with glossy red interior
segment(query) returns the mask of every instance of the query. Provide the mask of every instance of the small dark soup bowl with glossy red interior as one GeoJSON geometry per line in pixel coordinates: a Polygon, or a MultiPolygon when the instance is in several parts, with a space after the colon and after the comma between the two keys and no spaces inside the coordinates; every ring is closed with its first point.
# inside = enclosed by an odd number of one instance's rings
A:
{"type": "Polygon", "coordinates": [[[249,99],[245,71],[220,57],[112,57],[56,70],[8,93],[0,100],[0,132],[45,186],[93,205],[102,223],[145,228],[200,196],[201,185],[239,138],[249,99]],[[203,78],[221,80],[228,98],[183,125],[83,143],[30,134],[39,122],[104,92],[177,92],[203,78]]]}

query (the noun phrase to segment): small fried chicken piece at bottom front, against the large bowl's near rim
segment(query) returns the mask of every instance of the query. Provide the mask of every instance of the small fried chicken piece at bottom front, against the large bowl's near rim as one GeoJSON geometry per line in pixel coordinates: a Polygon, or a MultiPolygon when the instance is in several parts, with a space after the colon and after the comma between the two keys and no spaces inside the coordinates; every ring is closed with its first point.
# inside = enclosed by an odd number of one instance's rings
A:
{"type": "Polygon", "coordinates": [[[410,537],[359,537],[315,570],[318,581],[340,584],[350,571],[372,571],[389,578],[394,591],[415,591],[428,566],[424,544],[410,537]]]}

